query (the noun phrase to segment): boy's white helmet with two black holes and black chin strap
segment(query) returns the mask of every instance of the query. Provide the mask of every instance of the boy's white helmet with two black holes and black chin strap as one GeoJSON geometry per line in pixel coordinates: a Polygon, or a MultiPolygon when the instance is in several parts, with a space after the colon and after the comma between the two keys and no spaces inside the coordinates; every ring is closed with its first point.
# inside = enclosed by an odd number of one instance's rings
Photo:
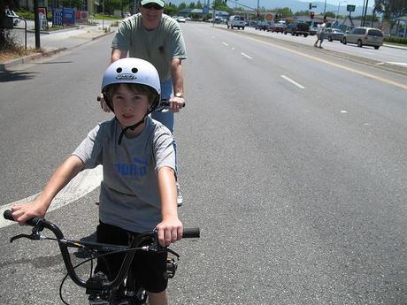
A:
{"type": "Polygon", "coordinates": [[[133,126],[125,127],[119,136],[119,145],[123,139],[123,135],[128,129],[134,130],[144,122],[144,119],[152,112],[155,111],[158,103],[160,102],[161,86],[157,69],[148,61],[128,57],[122,58],[108,66],[104,72],[104,80],[102,80],[102,93],[104,101],[107,103],[111,111],[114,112],[113,105],[109,96],[107,96],[107,88],[113,84],[139,84],[148,86],[157,93],[156,99],[151,103],[150,109],[146,112],[142,120],[133,126]]]}

